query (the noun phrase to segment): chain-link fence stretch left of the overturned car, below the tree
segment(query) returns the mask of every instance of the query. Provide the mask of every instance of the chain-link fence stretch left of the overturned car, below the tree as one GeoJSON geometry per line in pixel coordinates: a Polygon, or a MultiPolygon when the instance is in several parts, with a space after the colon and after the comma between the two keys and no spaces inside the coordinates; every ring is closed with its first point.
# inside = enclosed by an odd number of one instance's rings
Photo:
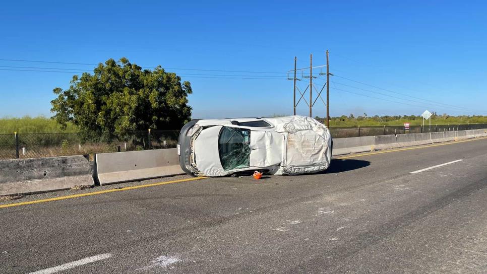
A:
{"type": "Polygon", "coordinates": [[[175,148],[179,130],[136,131],[128,138],[101,142],[78,133],[0,134],[0,159],[84,155],[104,152],[175,148]]]}

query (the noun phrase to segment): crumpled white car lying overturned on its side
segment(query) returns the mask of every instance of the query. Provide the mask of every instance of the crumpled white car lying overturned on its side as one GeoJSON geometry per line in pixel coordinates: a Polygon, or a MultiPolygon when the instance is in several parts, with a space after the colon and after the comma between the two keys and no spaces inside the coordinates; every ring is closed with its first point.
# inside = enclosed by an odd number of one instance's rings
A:
{"type": "Polygon", "coordinates": [[[331,150],[328,128],[305,116],[192,120],[177,145],[182,170],[193,176],[319,172],[330,166],[331,150]]]}

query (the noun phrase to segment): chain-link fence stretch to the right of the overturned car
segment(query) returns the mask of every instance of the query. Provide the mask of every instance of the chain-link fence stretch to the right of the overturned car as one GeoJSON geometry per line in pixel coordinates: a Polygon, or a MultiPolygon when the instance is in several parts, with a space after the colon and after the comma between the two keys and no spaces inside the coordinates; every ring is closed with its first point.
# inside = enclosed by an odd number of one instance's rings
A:
{"type": "Polygon", "coordinates": [[[409,130],[402,125],[330,127],[330,132],[333,138],[347,138],[359,136],[454,131],[480,128],[487,128],[487,124],[439,124],[431,126],[410,125],[409,130]]]}

